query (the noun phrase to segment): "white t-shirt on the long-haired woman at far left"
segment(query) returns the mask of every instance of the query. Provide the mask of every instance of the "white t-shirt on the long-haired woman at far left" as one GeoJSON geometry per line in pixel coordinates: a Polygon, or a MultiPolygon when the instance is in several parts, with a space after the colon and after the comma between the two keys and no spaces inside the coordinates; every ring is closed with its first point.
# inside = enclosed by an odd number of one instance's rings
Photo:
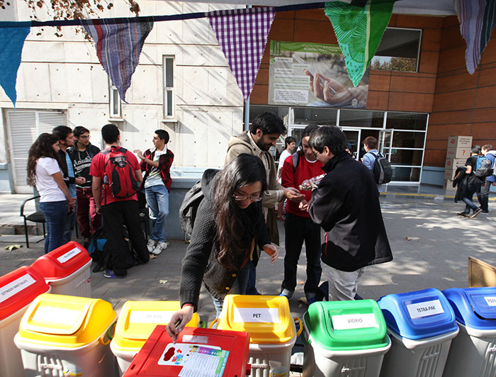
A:
{"type": "Polygon", "coordinates": [[[59,163],[50,157],[41,157],[36,162],[36,188],[40,202],[65,201],[65,195],[52,174],[60,171],[59,163]]]}

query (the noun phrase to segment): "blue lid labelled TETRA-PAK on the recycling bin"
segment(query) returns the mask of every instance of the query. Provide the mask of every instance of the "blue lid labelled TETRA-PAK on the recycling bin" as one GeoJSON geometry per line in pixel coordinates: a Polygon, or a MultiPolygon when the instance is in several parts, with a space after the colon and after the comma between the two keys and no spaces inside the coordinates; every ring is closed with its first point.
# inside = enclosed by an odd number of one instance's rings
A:
{"type": "Polygon", "coordinates": [[[455,313],[436,288],[388,295],[378,300],[386,324],[400,337],[427,339],[455,331],[455,313]]]}

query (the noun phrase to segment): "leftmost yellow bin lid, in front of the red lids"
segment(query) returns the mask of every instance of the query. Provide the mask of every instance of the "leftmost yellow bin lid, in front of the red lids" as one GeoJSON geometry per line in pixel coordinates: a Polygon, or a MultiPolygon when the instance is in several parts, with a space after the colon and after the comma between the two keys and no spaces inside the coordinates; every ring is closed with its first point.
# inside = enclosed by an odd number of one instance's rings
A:
{"type": "Polygon", "coordinates": [[[111,303],[100,298],[43,293],[24,313],[19,336],[24,342],[82,347],[104,337],[115,317],[111,303]]]}

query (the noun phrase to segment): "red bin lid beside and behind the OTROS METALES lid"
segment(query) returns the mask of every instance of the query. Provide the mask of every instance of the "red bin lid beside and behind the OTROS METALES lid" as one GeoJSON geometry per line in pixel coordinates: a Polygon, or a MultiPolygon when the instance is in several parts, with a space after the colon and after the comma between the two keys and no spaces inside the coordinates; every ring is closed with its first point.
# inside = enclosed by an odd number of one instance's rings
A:
{"type": "Polygon", "coordinates": [[[88,252],[71,241],[36,259],[31,267],[47,280],[57,280],[74,274],[91,261],[88,252]]]}

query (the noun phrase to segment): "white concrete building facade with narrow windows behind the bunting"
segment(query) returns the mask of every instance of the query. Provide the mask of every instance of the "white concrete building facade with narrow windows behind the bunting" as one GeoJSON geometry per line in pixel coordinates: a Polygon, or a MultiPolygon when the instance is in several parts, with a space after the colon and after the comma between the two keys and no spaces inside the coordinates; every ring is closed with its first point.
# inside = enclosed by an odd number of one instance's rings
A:
{"type": "MultiPolygon", "coordinates": [[[[26,21],[22,1],[0,12],[26,21]]],[[[140,1],[140,16],[230,9],[226,4],[140,1]]],[[[238,6],[244,7],[244,6],[238,6]]],[[[100,17],[129,17],[124,1],[100,17]]],[[[102,147],[100,129],[118,126],[128,150],[152,147],[154,130],[171,140],[174,167],[221,167],[231,135],[243,130],[243,97],[207,18],[154,23],[140,55],[126,101],[103,70],[93,43],[72,26],[32,28],[17,77],[16,109],[0,90],[0,191],[33,192],[26,184],[30,145],[57,125],[83,125],[102,147]],[[40,33],[41,32],[41,33],[40,33]]]]}

